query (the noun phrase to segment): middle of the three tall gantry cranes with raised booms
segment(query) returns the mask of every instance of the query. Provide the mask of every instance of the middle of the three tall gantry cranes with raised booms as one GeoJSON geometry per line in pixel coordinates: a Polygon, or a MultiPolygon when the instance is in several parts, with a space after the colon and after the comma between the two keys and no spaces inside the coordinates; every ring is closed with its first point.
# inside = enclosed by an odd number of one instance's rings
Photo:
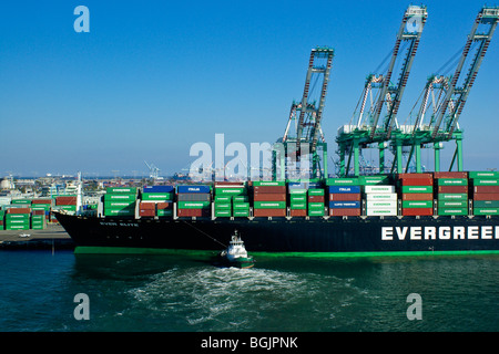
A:
{"type": "Polygon", "coordinates": [[[427,19],[426,7],[410,6],[404,13],[400,28],[397,32],[395,46],[391,51],[390,62],[386,73],[370,74],[367,76],[363,94],[349,125],[338,129],[336,143],[338,144],[339,170],[342,176],[347,176],[352,155],[354,155],[354,175],[359,175],[360,148],[377,144],[379,149],[379,170],[385,169],[385,148],[391,138],[394,127],[397,127],[397,112],[409,77],[413,61],[419,45],[422,29],[427,19]],[[396,63],[401,63],[395,73],[396,63]],[[393,77],[396,79],[393,82],[393,77]],[[375,100],[373,91],[377,90],[375,100]],[[370,97],[370,107],[366,110],[366,103],[370,97]],[[386,114],[378,125],[383,107],[386,114]],[[357,123],[353,124],[356,117],[357,123]],[[348,155],[348,162],[345,162],[348,155]],[[346,163],[346,164],[345,164],[346,163]]]}

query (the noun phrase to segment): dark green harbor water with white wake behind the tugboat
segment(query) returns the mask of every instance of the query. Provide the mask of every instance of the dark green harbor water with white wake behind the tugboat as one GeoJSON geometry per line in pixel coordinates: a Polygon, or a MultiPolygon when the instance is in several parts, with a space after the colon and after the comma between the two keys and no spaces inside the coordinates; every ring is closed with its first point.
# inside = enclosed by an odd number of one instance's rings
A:
{"type": "Polygon", "coordinates": [[[3,250],[0,282],[1,332],[499,331],[498,256],[261,258],[241,270],[195,257],[3,250]],[[75,317],[77,294],[88,320],[75,317]]]}

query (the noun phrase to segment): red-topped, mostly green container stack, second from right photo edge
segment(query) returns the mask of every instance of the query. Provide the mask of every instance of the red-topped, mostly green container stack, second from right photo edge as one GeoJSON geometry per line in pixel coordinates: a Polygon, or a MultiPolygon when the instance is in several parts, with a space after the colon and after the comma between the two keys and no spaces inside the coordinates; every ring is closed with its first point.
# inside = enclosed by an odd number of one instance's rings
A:
{"type": "Polygon", "coordinates": [[[468,215],[468,173],[434,173],[438,216],[468,215]]]}

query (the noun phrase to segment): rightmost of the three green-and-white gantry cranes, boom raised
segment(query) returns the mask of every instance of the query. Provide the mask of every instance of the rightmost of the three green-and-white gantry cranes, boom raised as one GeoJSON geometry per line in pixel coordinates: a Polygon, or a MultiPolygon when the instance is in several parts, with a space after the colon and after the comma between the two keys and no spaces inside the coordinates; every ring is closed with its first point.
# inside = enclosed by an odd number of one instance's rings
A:
{"type": "Polygon", "coordinates": [[[435,171],[439,171],[440,149],[442,143],[449,140],[456,142],[449,170],[452,169],[456,160],[457,170],[464,169],[462,131],[459,128],[458,121],[498,21],[499,7],[483,7],[477,14],[454,75],[434,74],[428,77],[415,124],[400,126],[401,132],[395,137],[397,146],[410,146],[406,171],[413,156],[416,157],[416,171],[421,171],[420,148],[431,145],[435,149],[435,171]],[[465,79],[460,81],[466,63],[468,63],[468,71],[465,79]],[[426,114],[429,101],[432,103],[432,112],[426,114]]]}

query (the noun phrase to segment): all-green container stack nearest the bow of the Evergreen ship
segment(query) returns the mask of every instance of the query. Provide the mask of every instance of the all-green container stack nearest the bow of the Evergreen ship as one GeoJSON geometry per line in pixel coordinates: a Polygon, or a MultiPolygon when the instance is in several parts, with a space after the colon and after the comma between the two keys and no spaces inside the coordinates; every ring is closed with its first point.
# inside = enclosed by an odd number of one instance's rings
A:
{"type": "Polygon", "coordinates": [[[108,187],[104,195],[104,216],[135,216],[136,187],[108,187]]]}

